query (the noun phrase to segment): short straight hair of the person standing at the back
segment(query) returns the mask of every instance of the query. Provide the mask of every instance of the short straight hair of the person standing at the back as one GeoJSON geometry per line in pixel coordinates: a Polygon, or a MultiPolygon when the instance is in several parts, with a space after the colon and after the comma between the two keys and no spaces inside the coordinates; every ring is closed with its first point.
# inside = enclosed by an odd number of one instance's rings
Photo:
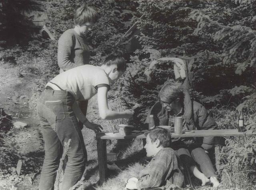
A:
{"type": "Polygon", "coordinates": [[[84,5],[76,10],[74,14],[74,24],[83,25],[86,22],[96,23],[98,20],[98,12],[90,6],[84,5]]]}

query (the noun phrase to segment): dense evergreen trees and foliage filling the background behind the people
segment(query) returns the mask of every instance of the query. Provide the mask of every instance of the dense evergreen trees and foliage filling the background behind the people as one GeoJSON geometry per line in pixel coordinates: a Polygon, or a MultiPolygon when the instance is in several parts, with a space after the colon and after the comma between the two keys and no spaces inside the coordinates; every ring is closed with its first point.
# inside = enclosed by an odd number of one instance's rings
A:
{"type": "MultiPolygon", "coordinates": [[[[150,62],[160,57],[192,60],[192,98],[201,102],[221,129],[236,129],[238,110],[247,129],[256,127],[256,0],[5,0],[0,3],[0,64],[20,67],[22,75],[36,74],[37,96],[58,74],[57,40],[35,35],[32,17],[24,10],[44,10],[47,27],[56,39],[73,28],[74,11],[94,6],[100,19],[86,36],[90,64],[99,65],[114,49],[124,51],[128,69],[109,94],[110,107],[142,109],[129,120],[142,125],[161,86],[174,80],[173,63],[163,62],[145,76],[150,62]],[[136,29],[124,35],[136,24],[136,29]],[[136,31],[134,33],[134,31],[136,31]],[[135,35],[135,36],[134,36],[135,35]],[[134,41],[138,49],[130,46],[134,41]]],[[[35,110],[34,105],[30,108],[35,110]]],[[[1,116],[1,123],[4,123],[1,116]]],[[[114,121],[112,130],[123,121],[114,121]]],[[[1,125],[6,137],[8,126],[1,125]]],[[[7,138],[7,137],[6,137],[7,138]]],[[[4,138],[3,138],[4,139],[4,138]]],[[[10,156],[4,140],[2,158],[10,156]]],[[[226,139],[222,148],[222,178],[227,188],[254,189],[256,137],[226,139]],[[242,172],[241,172],[242,171],[242,172]]],[[[8,172],[8,171],[7,171],[8,172]]]]}

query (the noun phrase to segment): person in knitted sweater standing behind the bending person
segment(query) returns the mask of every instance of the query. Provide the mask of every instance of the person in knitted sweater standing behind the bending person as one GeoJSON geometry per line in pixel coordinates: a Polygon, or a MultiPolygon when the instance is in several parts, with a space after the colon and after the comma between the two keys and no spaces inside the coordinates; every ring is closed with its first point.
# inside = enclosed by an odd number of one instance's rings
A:
{"type": "MultiPolygon", "coordinates": [[[[98,20],[98,12],[90,6],[78,8],[74,14],[74,28],[66,30],[58,40],[58,65],[60,73],[89,64],[90,49],[86,41],[86,33],[98,20]]],[[[79,101],[78,105],[86,115],[88,101],[79,101]]],[[[82,127],[80,122],[80,127],[82,127]]]]}

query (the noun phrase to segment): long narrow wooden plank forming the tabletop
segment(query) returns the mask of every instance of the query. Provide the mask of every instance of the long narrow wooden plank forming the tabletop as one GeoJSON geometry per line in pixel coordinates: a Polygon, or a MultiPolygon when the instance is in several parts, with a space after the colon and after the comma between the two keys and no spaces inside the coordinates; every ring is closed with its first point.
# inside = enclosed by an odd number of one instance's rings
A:
{"type": "MultiPolygon", "coordinates": [[[[195,130],[185,132],[182,135],[177,135],[172,133],[172,138],[176,137],[227,137],[227,136],[249,136],[255,134],[256,131],[248,130],[244,133],[238,132],[238,129],[219,129],[219,130],[195,130]]],[[[145,139],[145,135],[143,133],[132,134],[132,135],[120,135],[119,133],[114,133],[115,136],[109,136],[105,134],[98,134],[97,139],[145,139]]]]}

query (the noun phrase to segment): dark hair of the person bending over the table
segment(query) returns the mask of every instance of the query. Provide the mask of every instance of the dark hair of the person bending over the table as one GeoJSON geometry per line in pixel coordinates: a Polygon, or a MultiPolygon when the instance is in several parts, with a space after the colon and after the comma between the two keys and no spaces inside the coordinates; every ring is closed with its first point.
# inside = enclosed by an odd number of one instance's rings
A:
{"type": "Polygon", "coordinates": [[[103,62],[103,65],[117,65],[117,71],[126,71],[126,63],[123,56],[122,51],[114,51],[113,53],[109,54],[103,62]]]}

